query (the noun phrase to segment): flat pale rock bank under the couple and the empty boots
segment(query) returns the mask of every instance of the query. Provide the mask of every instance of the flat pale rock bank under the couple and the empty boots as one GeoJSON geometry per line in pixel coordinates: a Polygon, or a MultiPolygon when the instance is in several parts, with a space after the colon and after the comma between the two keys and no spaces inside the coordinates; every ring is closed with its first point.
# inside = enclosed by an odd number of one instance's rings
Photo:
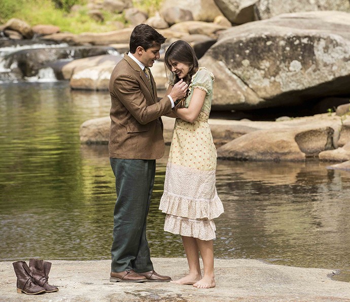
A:
{"type": "MultiPolygon", "coordinates": [[[[211,289],[174,283],[111,283],[110,260],[51,262],[49,283],[58,286],[59,291],[34,296],[16,292],[12,261],[1,262],[0,300],[350,301],[350,283],[329,278],[334,270],[272,265],[259,260],[216,259],[217,286],[211,289]]],[[[154,258],[153,263],[157,272],[173,279],[187,273],[185,258],[154,258]]]]}

